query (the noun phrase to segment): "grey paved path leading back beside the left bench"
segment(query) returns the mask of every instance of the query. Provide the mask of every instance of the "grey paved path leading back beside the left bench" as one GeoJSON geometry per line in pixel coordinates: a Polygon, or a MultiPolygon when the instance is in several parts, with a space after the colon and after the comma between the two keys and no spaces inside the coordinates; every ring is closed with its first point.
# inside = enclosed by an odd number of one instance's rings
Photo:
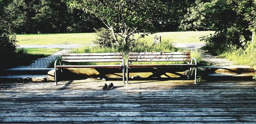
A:
{"type": "Polygon", "coordinates": [[[67,49],[61,50],[61,51],[58,51],[58,52],[52,54],[51,56],[37,59],[37,60],[35,60],[35,62],[33,62],[30,65],[17,66],[15,68],[48,68],[49,65],[55,61],[56,57],[61,56],[61,54],[67,53],[69,51],[70,50],[67,50],[67,49]]]}

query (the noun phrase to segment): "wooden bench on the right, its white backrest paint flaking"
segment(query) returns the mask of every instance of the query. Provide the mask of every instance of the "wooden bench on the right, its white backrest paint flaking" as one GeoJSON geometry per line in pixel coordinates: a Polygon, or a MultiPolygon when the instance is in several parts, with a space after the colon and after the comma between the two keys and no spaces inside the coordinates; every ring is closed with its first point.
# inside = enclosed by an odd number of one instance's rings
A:
{"type": "Polygon", "coordinates": [[[197,61],[190,57],[190,52],[164,52],[164,53],[129,53],[127,58],[127,84],[129,79],[129,68],[171,68],[171,67],[188,67],[190,71],[195,68],[195,83],[196,84],[196,70],[197,61]],[[195,63],[193,64],[193,60],[195,63]],[[188,64],[165,64],[165,65],[133,65],[132,62],[174,62],[187,61],[188,64]],[[189,61],[189,62],[188,62],[189,61]]]}

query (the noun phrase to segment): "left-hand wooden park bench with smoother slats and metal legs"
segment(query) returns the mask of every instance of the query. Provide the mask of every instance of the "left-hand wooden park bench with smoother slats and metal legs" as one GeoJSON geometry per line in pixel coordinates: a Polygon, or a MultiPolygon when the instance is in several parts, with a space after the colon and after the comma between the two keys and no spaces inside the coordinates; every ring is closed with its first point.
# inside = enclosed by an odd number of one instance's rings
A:
{"type": "Polygon", "coordinates": [[[62,68],[122,68],[123,84],[125,83],[125,61],[122,53],[84,53],[63,54],[61,60],[54,63],[55,83],[57,85],[57,70],[62,68]],[[59,65],[57,63],[59,62],[59,65]],[[64,65],[65,62],[120,62],[120,65],[64,65]]]}

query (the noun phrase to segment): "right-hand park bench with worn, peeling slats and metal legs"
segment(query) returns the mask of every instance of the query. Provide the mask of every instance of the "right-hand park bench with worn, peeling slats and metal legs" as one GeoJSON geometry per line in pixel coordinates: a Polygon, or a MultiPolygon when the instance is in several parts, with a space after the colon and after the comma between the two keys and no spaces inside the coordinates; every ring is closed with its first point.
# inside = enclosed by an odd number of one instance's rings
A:
{"type": "Polygon", "coordinates": [[[126,76],[126,84],[128,85],[129,82],[129,65],[132,65],[131,62],[150,62],[150,60],[154,61],[154,62],[177,62],[177,61],[191,61],[190,64],[175,64],[175,66],[173,66],[174,64],[172,65],[143,65],[143,66],[140,66],[140,65],[135,65],[135,67],[132,67],[132,68],[169,68],[169,67],[190,67],[189,71],[192,70],[192,68],[195,68],[195,82],[194,84],[197,84],[196,82],[196,74],[197,74],[197,60],[195,58],[190,58],[190,52],[173,52],[173,53],[169,53],[169,52],[166,52],[166,53],[149,53],[149,52],[145,52],[145,53],[132,53],[130,52],[129,55],[128,55],[128,58],[126,60],[126,73],[127,73],[127,76],[126,76]],[[154,54],[157,54],[157,55],[154,55],[154,54]],[[157,57],[157,56],[163,56],[163,55],[169,55],[170,58],[160,58],[160,57],[157,57]],[[188,55],[186,57],[176,57],[176,58],[171,58],[172,55],[188,55]],[[134,59],[133,60],[130,60],[131,56],[137,56],[137,59],[134,59]],[[138,57],[140,56],[140,57],[138,57]],[[152,56],[152,57],[148,57],[148,56],[152,56]],[[155,58],[157,58],[158,60],[156,60],[155,58]],[[183,60],[182,60],[183,59],[183,60]],[[145,61],[143,61],[145,60],[145,61]],[[177,60],[177,61],[175,61],[177,60]],[[194,63],[193,64],[193,60],[194,60],[194,63]],[[130,63],[130,64],[129,64],[130,63]]]}

